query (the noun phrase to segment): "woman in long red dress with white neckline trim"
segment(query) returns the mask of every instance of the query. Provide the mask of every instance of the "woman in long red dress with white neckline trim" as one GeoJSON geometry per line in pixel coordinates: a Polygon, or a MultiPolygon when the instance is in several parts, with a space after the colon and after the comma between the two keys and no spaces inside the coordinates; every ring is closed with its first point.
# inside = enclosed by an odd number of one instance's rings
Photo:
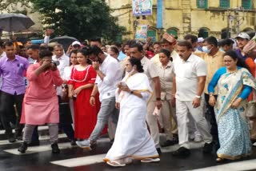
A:
{"type": "Polygon", "coordinates": [[[94,130],[100,109],[98,94],[96,104],[90,105],[90,94],[94,87],[96,72],[90,65],[87,50],[78,50],[78,65],[71,71],[69,97],[74,97],[74,137],[87,139],[94,130]]]}

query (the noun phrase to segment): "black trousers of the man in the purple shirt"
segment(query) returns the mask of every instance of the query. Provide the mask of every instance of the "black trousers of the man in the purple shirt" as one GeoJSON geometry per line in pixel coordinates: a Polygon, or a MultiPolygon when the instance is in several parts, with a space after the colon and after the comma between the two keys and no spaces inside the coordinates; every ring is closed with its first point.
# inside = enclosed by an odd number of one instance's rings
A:
{"type": "Polygon", "coordinates": [[[22,133],[24,127],[23,124],[20,124],[21,115],[22,115],[22,103],[23,103],[24,93],[22,94],[10,94],[6,92],[0,93],[0,117],[2,121],[3,128],[6,130],[6,135],[12,134],[12,129],[10,127],[10,121],[14,118],[14,104],[17,109],[15,131],[22,133]]]}

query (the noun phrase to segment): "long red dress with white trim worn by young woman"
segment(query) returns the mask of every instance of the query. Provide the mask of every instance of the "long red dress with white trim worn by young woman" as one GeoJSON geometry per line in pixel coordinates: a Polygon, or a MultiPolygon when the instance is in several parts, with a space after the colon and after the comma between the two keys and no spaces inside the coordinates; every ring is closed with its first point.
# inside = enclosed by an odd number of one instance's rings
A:
{"type": "MultiPolygon", "coordinates": [[[[87,66],[86,70],[79,71],[74,66],[69,84],[74,86],[74,89],[82,85],[94,84],[96,72],[92,66],[87,66]]],[[[74,100],[74,137],[87,139],[90,133],[94,130],[97,122],[97,115],[100,109],[100,101],[98,93],[95,96],[96,103],[90,105],[90,95],[93,88],[82,89],[74,100]]]]}

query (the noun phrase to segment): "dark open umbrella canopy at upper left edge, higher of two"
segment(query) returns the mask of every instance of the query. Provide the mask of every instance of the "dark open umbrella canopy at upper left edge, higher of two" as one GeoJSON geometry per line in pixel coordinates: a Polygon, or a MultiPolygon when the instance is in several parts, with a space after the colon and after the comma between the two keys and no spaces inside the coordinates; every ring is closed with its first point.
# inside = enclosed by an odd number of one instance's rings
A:
{"type": "Polygon", "coordinates": [[[33,25],[31,18],[23,14],[0,14],[0,29],[4,31],[17,32],[33,25]]]}

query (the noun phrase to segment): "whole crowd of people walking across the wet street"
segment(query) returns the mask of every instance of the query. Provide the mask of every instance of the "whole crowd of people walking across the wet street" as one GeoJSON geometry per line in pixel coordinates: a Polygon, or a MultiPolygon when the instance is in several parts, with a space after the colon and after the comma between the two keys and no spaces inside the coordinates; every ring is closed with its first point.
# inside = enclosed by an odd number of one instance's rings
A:
{"type": "Polygon", "coordinates": [[[133,160],[160,161],[161,148],[179,145],[174,157],[190,155],[190,141],[216,161],[249,156],[256,141],[255,117],[246,116],[255,99],[254,35],[234,39],[135,40],[102,46],[73,42],[0,45],[0,116],[10,143],[20,153],[40,145],[38,125],[48,125],[53,153],[62,129],[70,145],[94,149],[109,134],[103,159],[125,166],[133,160]],[[24,82],[25,80],[25,82],[24,82]],[[15,133],[12,132],[15,127],[15,133]],[[160,133],[166,141],[160,144],[160,133]]]}

